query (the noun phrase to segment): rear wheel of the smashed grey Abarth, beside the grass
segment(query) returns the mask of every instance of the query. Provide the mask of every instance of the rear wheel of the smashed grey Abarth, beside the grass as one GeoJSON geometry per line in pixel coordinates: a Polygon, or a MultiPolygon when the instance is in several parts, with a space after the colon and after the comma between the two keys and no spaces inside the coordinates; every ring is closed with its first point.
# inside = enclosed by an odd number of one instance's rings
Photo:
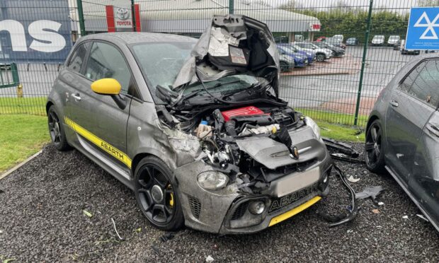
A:
{"type": "Polygon", "coordinates": [[[66,134],[64,133],[64,127],[59,120],[59,115],[55,110],[55,105],[50,106],[47,111],[47,125],[49,128],[50,139],[55,145],[58,151],[67,151],[71,147],[67,143],[66,134]]]}

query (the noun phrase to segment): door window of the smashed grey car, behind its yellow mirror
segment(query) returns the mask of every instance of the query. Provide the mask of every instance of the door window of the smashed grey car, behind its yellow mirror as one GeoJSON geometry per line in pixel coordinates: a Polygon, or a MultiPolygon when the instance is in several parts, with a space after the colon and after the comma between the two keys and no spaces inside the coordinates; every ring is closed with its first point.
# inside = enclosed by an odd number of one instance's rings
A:
{"type": "Polygon", "coordinates": [[[127,93],[130,86],[131,73],[125,58],[113,45],[103,42],[93,43],[85,75],[93,81],[115,78],[122,86],[123,93],[127,93]]]}

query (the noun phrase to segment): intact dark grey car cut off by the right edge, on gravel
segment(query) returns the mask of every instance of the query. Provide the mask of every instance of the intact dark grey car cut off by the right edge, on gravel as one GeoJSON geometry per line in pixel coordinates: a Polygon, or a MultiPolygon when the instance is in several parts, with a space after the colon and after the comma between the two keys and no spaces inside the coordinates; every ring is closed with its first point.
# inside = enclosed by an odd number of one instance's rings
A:
{"type": "Polygon", "coordinates": [[[412,59],[377,98],[367,122],[369,170],[394,177],[439,230],[439,56],[412,59]]]}

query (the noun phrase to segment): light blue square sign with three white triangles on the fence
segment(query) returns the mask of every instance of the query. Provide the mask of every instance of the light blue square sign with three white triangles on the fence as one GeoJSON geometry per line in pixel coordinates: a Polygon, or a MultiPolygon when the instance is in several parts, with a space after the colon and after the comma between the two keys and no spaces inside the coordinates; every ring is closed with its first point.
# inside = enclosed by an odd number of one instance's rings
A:
{"type": "Polygon", "coordinates": [[[439,7],[413,7],[407,28],[406,49],[439,49],[439,7]]]}

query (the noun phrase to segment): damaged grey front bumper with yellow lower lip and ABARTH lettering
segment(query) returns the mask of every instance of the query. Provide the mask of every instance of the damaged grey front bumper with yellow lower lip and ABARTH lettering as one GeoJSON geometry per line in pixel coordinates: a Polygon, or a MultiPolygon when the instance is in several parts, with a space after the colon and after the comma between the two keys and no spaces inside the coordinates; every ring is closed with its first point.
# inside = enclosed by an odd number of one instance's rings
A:
{"type": "Polygon", "coordinates": [[[280,190],[275,189],[279,185],[276,181],[271,183],[264,194],[243,193],[236,182],[217,191],[203,189],[198,185],[197,176],[194,176],[211,169],[203,161],[176,169],[175,178],[186,226],[210,233],[255,233],[294,216],[326,197],[329,193],[327,177],[331,168],[331,156],[326,152],[322,160],[313,163],[306,170],[280,178],[279,180],[287,180],[287,177],[319,171],[313,182],[301,182],[305,179],[301,177],[295,185],[304,183],[304,187],[282,196],[279,196],[280,190]],[[262,201],[265,206],[261,214],[252,214],[249,209],[251,202],[255,201],[262,201]]]}

